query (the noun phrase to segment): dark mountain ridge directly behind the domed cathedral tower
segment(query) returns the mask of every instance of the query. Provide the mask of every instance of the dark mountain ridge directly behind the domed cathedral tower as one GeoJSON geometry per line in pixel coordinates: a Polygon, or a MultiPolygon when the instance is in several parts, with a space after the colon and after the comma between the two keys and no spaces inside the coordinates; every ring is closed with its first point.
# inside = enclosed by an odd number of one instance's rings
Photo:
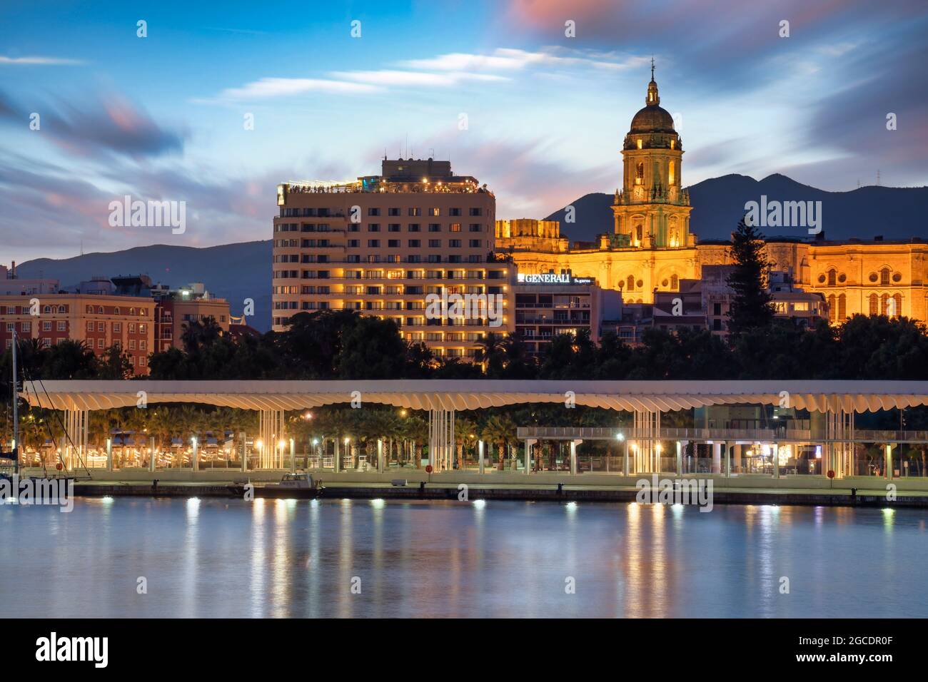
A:
{"type": "MultiPolygon", "coordinates": [[[[922,216],[928,213],[928,187],[858,187],[849,192],[827,192],[781,174],[754,180],[730,174],[703,180],[690,187],[690,231],[700,240],[728,239],[748,201],[821,201],[822,232],[828,239],[883,236],[885,239],[928,237],[922,216]]],[[[586,194],[576,199],[575,222],[564,223],[566,207],[545,220],[561,221],[561,236],[594,241],[612,232],[613,195],[586,194]]],[[[760,227],[766,237],[809,238],[806,227],[760,227]]]]}

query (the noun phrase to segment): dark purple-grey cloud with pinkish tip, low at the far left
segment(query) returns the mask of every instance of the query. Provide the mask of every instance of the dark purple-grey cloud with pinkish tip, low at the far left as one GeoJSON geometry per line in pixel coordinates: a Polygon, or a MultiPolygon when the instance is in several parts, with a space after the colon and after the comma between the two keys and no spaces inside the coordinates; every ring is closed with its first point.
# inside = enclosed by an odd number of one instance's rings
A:
{"type": "MultiPolygon", "coordinates": [[[[184,148],[186,133],[159,125],[123,97],[91,97],[84,109],[57,100],[36,106],[34,112],[40,116],[43,135],[79,156],[116,154],[140,159],[184,148]]],[[[0,92],[0,121],[28,121],[31,113],[0,92]]]]}

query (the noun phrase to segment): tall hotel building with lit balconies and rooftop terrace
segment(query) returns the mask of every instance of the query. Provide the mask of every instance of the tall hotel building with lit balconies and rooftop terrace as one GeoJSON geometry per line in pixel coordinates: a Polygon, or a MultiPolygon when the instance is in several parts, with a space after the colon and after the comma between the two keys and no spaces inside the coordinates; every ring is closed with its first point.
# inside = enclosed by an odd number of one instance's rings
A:
{"type": "Polygon", "coordinates": [[[450,161],[385,159],[356,182],[285,183],[277,205],[275,330],[301,312],[356,310],[436,355],[472,357],[484,334],[514,329],[515,267],[493,256],[496,197],[450,161]],[[428,315],[429,294],[456,293],[502,295],[501,318],[428,315]]]}

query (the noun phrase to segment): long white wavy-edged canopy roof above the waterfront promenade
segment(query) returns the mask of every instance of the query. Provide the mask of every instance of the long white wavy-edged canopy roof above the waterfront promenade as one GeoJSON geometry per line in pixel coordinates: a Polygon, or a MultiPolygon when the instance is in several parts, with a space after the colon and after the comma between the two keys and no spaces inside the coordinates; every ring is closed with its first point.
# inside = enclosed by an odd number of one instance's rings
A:
{"type": "Polygon", "coordinates": [[[667,412],[709,405],[788,405],[810,412],[868,412],[928,405],[928,381],[861,380],[48,380],[26,381],[30,405],[98,410],[151,403],[199,403],[296,410],[360,398],[410,409],[464,410],[564,403],[667,412]],[[784,400],[787,401],[784,403],[784,400]]]}

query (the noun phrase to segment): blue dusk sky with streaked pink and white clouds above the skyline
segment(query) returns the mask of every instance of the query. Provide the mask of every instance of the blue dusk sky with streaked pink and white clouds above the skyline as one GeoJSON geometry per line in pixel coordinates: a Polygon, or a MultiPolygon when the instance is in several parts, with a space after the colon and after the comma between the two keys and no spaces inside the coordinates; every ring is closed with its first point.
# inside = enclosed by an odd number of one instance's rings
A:
{"type": "Polygon", "coordinates": [[[684,185],[924,186],[926,36],[919,0],[4,0],[0,263],[271,238],[278,183],[384,154],[541,218],[621,184],[651,58],[684,185]],[[186,229],[111,226],[125,195],[186,229]]]}

